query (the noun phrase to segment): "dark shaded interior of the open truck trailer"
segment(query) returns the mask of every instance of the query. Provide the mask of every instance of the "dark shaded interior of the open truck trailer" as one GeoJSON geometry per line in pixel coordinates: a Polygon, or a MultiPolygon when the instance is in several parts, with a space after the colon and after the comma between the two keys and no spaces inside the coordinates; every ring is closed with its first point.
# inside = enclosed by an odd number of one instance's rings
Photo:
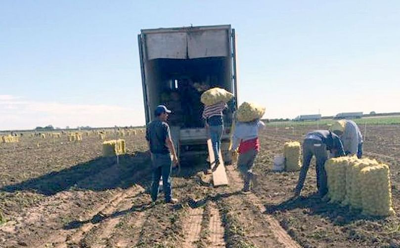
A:
{"type": "MultiPolygon", "coordinates": [[[[148,61],[150,73],[147,83],[150,109],[165,104],[173,113],[171,125],[181,128],[204,127],[201,94],[213,87],[231,89],[231,60],[229,57],[208,57],[195,59],[152,59],[148,61]]],[[[231,113],[234,104],[228,104],[226,113],[231,113]]],[[[231,123],[231,115],[224,114],[226,125],[231,123]]]]}

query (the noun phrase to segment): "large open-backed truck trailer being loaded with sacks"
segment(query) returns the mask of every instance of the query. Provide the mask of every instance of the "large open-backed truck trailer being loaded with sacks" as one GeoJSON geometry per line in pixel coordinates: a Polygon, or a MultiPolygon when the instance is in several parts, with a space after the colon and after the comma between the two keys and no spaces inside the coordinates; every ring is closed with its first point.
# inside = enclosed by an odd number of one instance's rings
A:
{"type": "Polygon", "coordinates": [[[180,120],[178,135],[172,136],[173,140],[178,137],[174,143],[178,143],[181,160],[207,154],[209,137],[202,120],[201,94],[220,87],[234,95],[223,116],[221,149],[228,161],[233,108],[237,108],[235,30],[231,25],[142,29],[138,46],[146,124],[155,119],[157,105],[168,107],[170,94],[178,95],[182,109],[174,116],[180,120]]]}

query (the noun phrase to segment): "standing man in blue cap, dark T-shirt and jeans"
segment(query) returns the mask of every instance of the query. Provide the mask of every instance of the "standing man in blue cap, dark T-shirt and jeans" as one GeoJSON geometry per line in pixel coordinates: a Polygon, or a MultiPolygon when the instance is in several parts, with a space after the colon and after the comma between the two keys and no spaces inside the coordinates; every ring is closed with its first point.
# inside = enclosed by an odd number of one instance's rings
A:
{"type": "Polygon", "coordinates": [[[170,127],[167,124],[168,114],[171,110],[164,105],[158,105],[154,111],[157,119],[147,125],[146,140],[151,152],[153,183],[151,185],[151,199],[157,200],[158,185],[163,176],[163,191],[167,203],[177,203],[178,199],[171,196],[171,168],[172,161],[178,163],[177,153],[171,139],[170,127]],[[172,153],[172,161],[171,161],[172,153]]]}

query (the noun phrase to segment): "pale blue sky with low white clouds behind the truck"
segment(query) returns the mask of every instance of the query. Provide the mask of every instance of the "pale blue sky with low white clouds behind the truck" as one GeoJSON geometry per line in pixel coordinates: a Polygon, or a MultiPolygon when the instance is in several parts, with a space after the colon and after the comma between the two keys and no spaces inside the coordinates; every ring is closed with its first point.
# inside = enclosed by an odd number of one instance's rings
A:
{"type": "Polygon", "coordinates": [[[0,129],[144,124],[140,29],[231,24],[267,118],[400,111],[400,1],[1,0],[0,129]]]}

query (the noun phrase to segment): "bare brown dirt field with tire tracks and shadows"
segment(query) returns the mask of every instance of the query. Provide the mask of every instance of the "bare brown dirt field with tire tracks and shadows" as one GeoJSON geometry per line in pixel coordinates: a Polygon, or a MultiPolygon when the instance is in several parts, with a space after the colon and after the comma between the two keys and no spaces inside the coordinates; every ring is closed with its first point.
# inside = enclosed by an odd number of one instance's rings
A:
{"type": "Polygon", "coordinates": [[[205,157],[183,164],[173,170],[175,205],[162,194],[151,203],[142,133],[124,138],[119,164],[101,157],[95,135],[0,144],[0,247],[400,247],[400,125],[369,126],[364,143],[365,156],[391,168],[397,214],[387,218],[322,202],[314,162],[302,197],[292,199],[298,172],[272,172],[273,156],[313,129],[267,126],[250,195],[234,166],[226,166],[229,187],[213,188],[205,157]]]}

